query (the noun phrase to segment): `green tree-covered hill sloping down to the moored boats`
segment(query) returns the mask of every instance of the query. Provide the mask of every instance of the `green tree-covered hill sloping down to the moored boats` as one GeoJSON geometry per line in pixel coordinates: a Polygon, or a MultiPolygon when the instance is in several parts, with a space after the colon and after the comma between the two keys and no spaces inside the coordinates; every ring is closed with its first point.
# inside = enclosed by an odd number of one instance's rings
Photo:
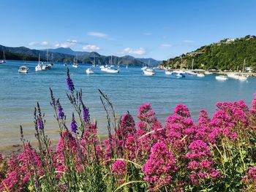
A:
{"type": "Polygon", "coordinates": [[[256,37],[247,35],[237,39],[223,39],[217,43],[200,47],[176,58],[162,62],[171,68],[241,70],[244,59],[246,66],[256,69],[256,37]]]}

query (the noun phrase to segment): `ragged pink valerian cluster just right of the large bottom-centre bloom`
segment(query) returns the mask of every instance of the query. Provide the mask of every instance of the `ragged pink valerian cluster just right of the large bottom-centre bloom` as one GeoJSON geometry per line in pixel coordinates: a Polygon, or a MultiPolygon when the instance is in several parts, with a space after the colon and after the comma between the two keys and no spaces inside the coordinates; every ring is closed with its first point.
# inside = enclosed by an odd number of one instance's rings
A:
{"type": "Polygon", "coordinates": [[[219,171],[214,169],[214,161],[211,159],[211,151],[208,145],[201,140],[196,140],[189,145],[189,153],[186,157],[190,160],[188,169],[192,184],[199,185],[200,181],[220,177],[219,171]]]}

